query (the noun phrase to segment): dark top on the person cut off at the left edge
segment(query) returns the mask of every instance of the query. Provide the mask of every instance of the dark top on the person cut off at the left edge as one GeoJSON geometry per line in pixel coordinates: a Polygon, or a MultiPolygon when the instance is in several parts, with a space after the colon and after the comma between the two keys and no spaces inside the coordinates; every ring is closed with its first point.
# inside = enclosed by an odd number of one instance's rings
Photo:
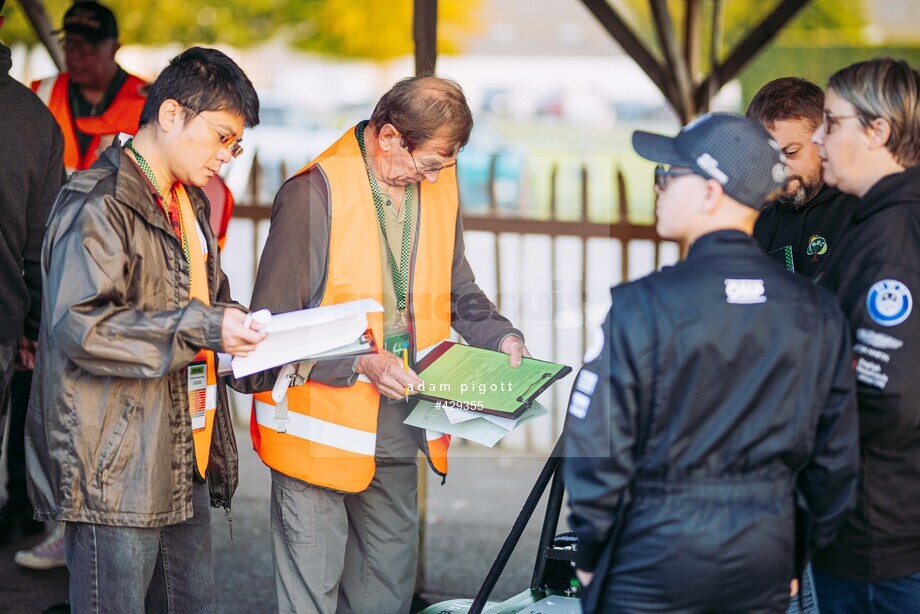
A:
{"type": "Polygon", "coordinates": [[[0,341],[38,338],[42,237],[64,180],[61,129],[12,65],[0,44],[0,341]]]}

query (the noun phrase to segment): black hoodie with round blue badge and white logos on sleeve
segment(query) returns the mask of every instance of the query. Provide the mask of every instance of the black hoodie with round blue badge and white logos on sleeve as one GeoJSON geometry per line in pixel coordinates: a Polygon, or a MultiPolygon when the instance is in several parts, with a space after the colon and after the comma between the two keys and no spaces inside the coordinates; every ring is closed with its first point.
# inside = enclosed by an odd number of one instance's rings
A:
{"type": "Polygon", "coordinates": [[[856,513],[815,568],[901,578],[920,571],[920,167],[872,186],[838,247],[817,279],[853,335],[860,483],[856,513]]]}

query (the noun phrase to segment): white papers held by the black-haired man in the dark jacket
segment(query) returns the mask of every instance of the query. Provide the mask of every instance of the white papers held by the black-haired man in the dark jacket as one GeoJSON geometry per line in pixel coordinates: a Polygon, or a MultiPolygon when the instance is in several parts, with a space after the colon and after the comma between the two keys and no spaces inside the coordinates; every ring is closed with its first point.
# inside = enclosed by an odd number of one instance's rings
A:
{"type": "Polygon", "coordinates": [[[335,358],[373,348],[367,314],[383,311],[377,301],[364,299],[273,315],[268,332],[255,351],[233,359],[234,377],[245,377],[291,362],[335,358]]]}

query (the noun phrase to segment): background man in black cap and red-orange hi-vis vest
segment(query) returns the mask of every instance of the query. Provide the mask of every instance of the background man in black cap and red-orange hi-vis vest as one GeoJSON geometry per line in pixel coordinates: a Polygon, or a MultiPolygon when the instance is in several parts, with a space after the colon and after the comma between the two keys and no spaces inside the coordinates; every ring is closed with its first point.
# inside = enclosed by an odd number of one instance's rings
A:
{"type": "Polygon", "coordinates": [[[67,72],[32,83],[64,133],[68,174],[88,169],[119,132],[135,134],[144,106],[144,81],[115,62],[118,24],[98,2],[78,2],[59,33],[67,72]]]}

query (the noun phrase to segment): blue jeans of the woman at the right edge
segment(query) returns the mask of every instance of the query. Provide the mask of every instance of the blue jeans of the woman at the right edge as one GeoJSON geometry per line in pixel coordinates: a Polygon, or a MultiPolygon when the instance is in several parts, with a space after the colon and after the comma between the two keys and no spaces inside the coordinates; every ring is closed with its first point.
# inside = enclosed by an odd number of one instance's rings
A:
{"type": "Polygon", "coordinates": [[[920,612],[920,573],[863,582],[815,571],[821,614],[904,614],[920,612]]]}

